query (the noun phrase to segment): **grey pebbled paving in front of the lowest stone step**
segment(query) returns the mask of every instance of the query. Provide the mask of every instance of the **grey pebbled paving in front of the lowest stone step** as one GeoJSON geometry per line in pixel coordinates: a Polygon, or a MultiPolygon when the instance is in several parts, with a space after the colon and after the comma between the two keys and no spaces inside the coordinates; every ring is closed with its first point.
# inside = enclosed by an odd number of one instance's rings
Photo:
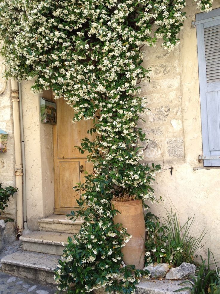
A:
{"type": "Polygon", "coordinates": [[[42,286],[0,271],[0,294],[54,294],[56,286],[42,286]]]}

